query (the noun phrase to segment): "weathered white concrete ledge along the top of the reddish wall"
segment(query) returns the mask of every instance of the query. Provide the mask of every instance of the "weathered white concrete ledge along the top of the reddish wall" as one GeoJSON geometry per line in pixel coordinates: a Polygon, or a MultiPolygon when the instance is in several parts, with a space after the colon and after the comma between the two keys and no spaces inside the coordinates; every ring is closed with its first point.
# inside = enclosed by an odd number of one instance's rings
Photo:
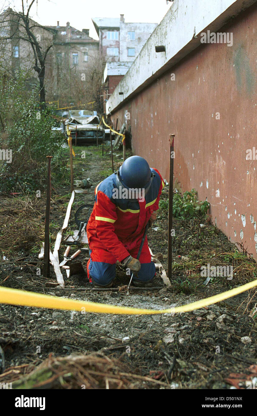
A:
{"type": "Polygon", "coordinates": [[[256,0],[175,0],[155,28],[125,77],[106,103],[108,113],[201,45],[201,32],[217,31],[256,0]],[[165,52],[155,52],[164,45],[165,52]],[[123,95],[119,95],[123,92],[123,95]]]}

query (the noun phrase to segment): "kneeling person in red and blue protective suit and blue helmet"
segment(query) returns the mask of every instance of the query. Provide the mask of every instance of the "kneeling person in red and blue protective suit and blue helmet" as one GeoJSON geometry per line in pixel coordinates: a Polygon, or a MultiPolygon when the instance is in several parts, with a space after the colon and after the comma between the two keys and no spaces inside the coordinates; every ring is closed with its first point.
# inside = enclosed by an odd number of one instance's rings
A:
{"type": "Polygon", "coordinates": [[[137,254],[148,221],[156,220],[155,211],[164,188],[157,169],[149,168],[140,156],[131,156],[120,169],[95,188],[95,204],[87,225],[90,259],[88,279],[97,287],[111,287],[118,260],[130,273],[133,283],[144,286],[155,275],[147,238],[139,260],[137,254]]]}

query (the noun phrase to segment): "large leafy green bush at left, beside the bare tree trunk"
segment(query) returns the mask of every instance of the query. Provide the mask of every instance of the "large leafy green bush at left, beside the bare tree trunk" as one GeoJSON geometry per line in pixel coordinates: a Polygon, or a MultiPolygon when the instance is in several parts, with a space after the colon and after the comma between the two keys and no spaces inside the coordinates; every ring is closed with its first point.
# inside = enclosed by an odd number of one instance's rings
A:
{"type": "Polygon", "coordinates": [[[32,192],[47,176],[46,156],[53,156],[52,171],[61,171],[59,155],[64,138],[51,131],[54,119],[40,111],[38,94],[29,91],[26,77],[7,77],[0,68],[0,114],[4,124],[1,149],[12,150],[12,162],[0,161],[0,191],[32,192]]]}

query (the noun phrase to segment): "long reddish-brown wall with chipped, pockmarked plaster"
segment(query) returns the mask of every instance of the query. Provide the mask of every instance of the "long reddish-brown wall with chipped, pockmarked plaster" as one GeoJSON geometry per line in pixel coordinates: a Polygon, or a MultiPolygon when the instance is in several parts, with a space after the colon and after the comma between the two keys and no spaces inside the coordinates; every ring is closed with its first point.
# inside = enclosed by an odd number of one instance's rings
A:
{"type": "Polygon", "coordinates": [[[166,179],[169,134],[176,134],[176,186],[182,191],[196,188],[201,200],[207,198],[213,222],[255,258],[257,156],[256,161],[246,156],[247,149],[257,149],[256,21],[255,3],[219,28],[219,32],[233,32],[233,46],[200,44],[175,65],[163,65],[166,72],[151,84],[143,81],[141,91],[135,83],[143,79],[143,72],[147,79],[147,62],[137,72],[140,62],[136,61],[143,62],[140,54],[106,105],[113,109],[113,122],[117,117],[124,122],[129,111],[127,125],[131,125],[135,154],[145,157],[166,179]],[[175,74],[173,81],[171,74],[175,74]],[[124,102],[117,96],[122,90],[124,102]]]}

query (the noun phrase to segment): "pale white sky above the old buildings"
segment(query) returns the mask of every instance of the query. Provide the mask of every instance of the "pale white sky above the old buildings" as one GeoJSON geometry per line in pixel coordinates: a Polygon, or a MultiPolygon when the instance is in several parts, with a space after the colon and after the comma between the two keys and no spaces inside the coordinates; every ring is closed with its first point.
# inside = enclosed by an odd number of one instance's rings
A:
{"type": "MultiPolygon", "coordinates": [[[[31,0],[24,0],[24,6],[31,0]]],[[[22,11],[22,0],[1,0],[1,11],[11,7],[22,11]]],[[[120,17],[125,22],[159,23],[171,7],[166,0],[36,0],[30,17],[41,25],[71,26],[78,30],[89,29],[89,36],[98,39],[91,17],[120,17]]]]}

